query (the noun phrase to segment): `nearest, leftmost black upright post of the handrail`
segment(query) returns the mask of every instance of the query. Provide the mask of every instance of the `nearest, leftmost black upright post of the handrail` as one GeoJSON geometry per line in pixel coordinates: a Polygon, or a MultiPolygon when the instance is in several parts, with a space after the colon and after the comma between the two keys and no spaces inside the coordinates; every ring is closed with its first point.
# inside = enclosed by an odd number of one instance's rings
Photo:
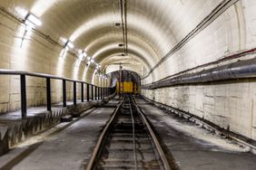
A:
{"type": "Polygon", "coordinates": [[[21,112],[22,118],[26,118],[26,92],[25,92],[25,74],[20,75],[21,82],[21,112]]]}

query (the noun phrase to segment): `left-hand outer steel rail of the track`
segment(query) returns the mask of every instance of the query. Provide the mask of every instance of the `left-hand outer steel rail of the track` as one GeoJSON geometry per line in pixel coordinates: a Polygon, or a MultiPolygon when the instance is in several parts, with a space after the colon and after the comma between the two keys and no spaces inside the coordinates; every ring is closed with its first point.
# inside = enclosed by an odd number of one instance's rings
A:
{"type": "Polygon", "coordinates": [[[108,123],[106,124],[106,126],[103,128],[103,132],[101,134],[101,136],[99,137],[96,146],[94,147],[94,151],[93,154],[88,162],[88,165],[86,166],[86,170],[91,170],[94,166],[94,162],[96,160],[96,157],[99,153],[100,147],[103,144],[103,139],[107,134],[107,131],[109,130],[109,127],[111,126],[111,124],[113,123],[114,118],[116,118],[117,112],[119,111],[120,107],[123,105],[123,101],[117,106],[117,108],[114,110],[112,117],[110,118],[110,120],[108,121],[108,123]]]}

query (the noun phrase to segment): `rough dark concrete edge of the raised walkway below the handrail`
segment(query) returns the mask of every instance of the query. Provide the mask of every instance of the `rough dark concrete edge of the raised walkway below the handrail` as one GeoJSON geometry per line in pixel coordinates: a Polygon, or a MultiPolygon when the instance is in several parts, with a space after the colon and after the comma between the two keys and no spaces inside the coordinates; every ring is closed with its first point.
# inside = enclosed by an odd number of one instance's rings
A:
{"type": "Polygon", "coordinates": [[[28,137],[40,134],[45,130],[56,126],[60,119],[73,112],[83,113],[88,109],[103,105],[113,99],[115,94],[102,100],[94,100],[77,105],[70,105],[66,108],[53,109],[52,112],[44,111],[34,117],[25,119],[1,119],[0,118],[0,156],[7,153],[10,147],[24,141],[28,137]]]}

